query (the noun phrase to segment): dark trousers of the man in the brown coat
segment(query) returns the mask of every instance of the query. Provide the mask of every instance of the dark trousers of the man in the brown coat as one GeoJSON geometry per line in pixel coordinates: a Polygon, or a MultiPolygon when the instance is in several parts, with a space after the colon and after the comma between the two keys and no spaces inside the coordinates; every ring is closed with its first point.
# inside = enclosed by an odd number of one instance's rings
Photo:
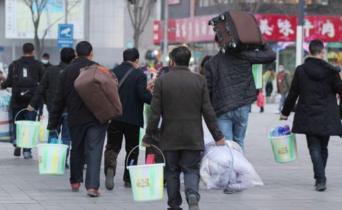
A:
{"type": "Polygon", "coordinates": [[[167,161],[167,196],[169,209],[179,209],[182,205],[180,195],[180,172],[184,173],[184,188],[186,200],[195,194],[199,200],[199,161],[200,150],[164,150],[167,161]]]}

